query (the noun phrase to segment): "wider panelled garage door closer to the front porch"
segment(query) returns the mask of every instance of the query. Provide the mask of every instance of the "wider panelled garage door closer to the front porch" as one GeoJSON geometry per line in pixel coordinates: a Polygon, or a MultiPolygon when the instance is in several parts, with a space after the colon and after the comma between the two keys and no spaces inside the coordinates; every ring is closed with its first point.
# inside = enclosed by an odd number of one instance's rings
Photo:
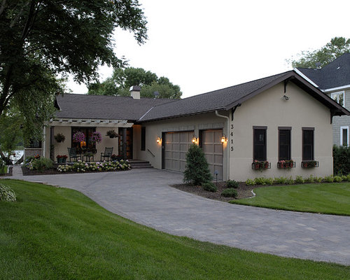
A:
{"type": "Polygon", "coordinates": [[[194,132],[165,133],[164,168],[184,172],[186,153],[192,144],[194,132]]]}

